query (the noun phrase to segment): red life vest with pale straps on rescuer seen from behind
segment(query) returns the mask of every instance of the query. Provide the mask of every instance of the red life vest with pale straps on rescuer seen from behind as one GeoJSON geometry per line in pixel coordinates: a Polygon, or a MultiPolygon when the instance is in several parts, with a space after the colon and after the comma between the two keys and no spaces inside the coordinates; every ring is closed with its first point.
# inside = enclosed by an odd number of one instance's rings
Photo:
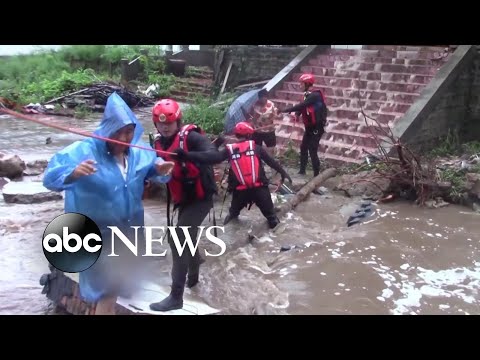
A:
{"type": "Polygon", "coordinates": [[[260,159],[255,154],[255,142],[252,140],[228,144],[230,167],[240,185],[237,190],[246,190],[262,186],[259,180],[260,159]]]}

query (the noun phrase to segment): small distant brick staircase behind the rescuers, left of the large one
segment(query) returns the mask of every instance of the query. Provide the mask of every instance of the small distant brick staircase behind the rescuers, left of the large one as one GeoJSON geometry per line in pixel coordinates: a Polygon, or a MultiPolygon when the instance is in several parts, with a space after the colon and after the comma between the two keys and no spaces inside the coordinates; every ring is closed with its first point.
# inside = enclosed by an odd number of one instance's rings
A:
{"type": "Polygon", "coordinates": [[[197,96],[208,97],[213,85],[213,70],[209,67],[189,67],[185,77],[177,78],[171,97],[191,103],[197,96]]]}

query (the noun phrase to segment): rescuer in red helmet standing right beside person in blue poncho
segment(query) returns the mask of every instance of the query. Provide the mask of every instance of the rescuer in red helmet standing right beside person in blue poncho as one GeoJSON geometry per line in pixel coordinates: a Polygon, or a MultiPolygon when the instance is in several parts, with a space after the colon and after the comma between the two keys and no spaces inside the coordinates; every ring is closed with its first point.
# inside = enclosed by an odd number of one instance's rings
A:
{"type": "MultiPolygon", "coordinates": [[[[152,113],[153,123],[158,130],[154,139],[155,149],[167,152],[182,149],[186,153],[202,151],[212,156],[218,152],[198,126],[182,125],[182,111],[176,101],[160,100],[154,105],[152,113]]],[[[174,207],[178,208],[177,229],[180,229],[179,226],[190,226],[190,237],[196,244],[198,226],[202,224],[213,207],[213,194],[217,191],[213,168],[210,165],[196,165],[178,156],[165,155],[164,158],[175,162],[172,179],[167,187],[169,198],[174,207]]],[[[177,234],[183,246],[185,243],[183,231],[179,230],[177,234]]],[[[185,283],[188,287],[198,283],[199,268],[203,262],[198,250],[195,256],[192,256],[186,246],[180,256],[171,237],[169,237],[169,244],[173,258],[172,290],[163,301],[150,305],[150,308],[155,311],[169,311],[183,307],[185,283]]]]}

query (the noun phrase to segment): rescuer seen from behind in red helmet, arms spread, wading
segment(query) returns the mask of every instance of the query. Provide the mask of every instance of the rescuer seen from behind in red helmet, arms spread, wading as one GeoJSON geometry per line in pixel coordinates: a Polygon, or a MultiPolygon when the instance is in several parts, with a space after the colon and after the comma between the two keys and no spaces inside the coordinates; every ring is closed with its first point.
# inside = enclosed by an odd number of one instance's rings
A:
{"type": "Polygon", "coordinates": [[[280,223],[280,220],[275,214],[268,188],[269,181],[265,175],[262,160],[278,171],[282,176],[282,183],[285,179],[291,183],[292,179],[262,146],[255,144],[252,140],[254,131],[249,123],[240,122],[234,129],[238,142],[227,144],[225,149],[214,155],[207,152],[189,151],[188,153],[181,152],[180,156],[203,164],[216,164],[228,159],[230,162],[228,191],[232,192],[232,203],[224,225],[230,220],[238,218],[244,207],[254,203],[267,219],[269,227],[273,229],[280,223]]]}

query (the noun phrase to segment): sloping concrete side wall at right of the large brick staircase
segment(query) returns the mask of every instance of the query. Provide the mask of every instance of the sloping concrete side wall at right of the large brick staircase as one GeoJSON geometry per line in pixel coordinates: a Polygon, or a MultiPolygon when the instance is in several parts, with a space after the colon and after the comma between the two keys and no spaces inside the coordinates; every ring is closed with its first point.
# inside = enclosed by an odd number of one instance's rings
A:
{"type": "Polygon", "coordinates": [[[479,54],[462,45],[395,124],[394,135],[416,151],[431,149],[449,131],[464,141],[480,140],[479,90],[479,54]]]}

